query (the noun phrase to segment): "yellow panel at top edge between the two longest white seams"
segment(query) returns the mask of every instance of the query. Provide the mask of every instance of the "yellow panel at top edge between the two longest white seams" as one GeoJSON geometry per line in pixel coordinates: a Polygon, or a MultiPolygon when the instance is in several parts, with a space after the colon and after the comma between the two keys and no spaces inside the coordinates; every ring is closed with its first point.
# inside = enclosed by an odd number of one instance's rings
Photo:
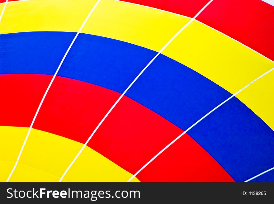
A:
{"type": "Polygon", "coordinates": [[[188,17],[113,0],[101,0],[82,32],[160,51],[188,17]]]}

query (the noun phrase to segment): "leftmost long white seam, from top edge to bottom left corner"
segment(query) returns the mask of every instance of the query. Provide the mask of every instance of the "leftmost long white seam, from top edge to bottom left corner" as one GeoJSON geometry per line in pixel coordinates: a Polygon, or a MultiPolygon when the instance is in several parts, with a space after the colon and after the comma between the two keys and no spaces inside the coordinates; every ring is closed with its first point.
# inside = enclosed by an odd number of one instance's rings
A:
{"type": "Polygon", "coordinates": [[[46,90],[46,92],[45,92],[45,94],[44,94],[44,96],[43,96],[43,98],[42,98],[40,104],[39,104],[39,107],[38,107],[38,109],[37,109],[37,111],[36,111],[36,113],[35,113],[35,116],[34,116],[32,122],[31,122],[31,126],[30,126],[30,128],[29,128],[29,130],[28,130],[28,133],[27,133],[27,135],[26,135],[26,138],[25,138],[25,140],[24,140],[24,143],[23,143],[23,145],[22,145],[22,147],[21,147],[21,150],[20,150],[20,153],[19,153],[19,155],[18,155],[18,157],[17,157],[16,163],[15,163],[14,167],[12,168],[12,171],[11,171],[9,177],[7,178],[7,181],[6,181],[6,182],[9,181],[9,179],[10,179],[11,176],[12,176],[12,173],[14,172],[14,170],[15,170],[17,164],[18,164],[18,161],[19,161],[19,159],[20,159],[20,156],[21,156],[21,154],[22,154],[22,151],[23,151],[23,149],[24,149],[24,147],[25,147],[25,145],[26,145],[26,141],[27,141],[27,139],[28,139],[28,137],[29,137],[29,135],[30,135],[32,126],[33,126],[33,124],[34,124],[34,121],[35,121],[35,119],[36,119],[36,117],[37,117],[37,115],[38,115],[38,112],[39,112],[39,110],[40,110],[40,108],[41,108],[41,106],[42,106],[42,103],[44,102],[45,97],[46,97],[46,95],[47,95],[47,93],[48,93],[48,91],[49,91],[49,89],[50,89],[50,87],[51,87],[51,85],[52,85],[52,83],[53,83],[53,81],[54,81],[54,78],[56,77],[56,75],[57,75],[57,73],[58,73],[60,67],[62,66],[62,64],[63,64],[63,62],[64,62],[64,59],[65,59],[66,56],[68,55],[69,50],[70,50],[70,48],[72,47],[74,41],[76,40],[77,36],[79,35],[79,33],[81,32],[81,30],[83,29],[83,27],[84,27],[84,25],[86,24],[88,18],[90,17],[90,15],[92,14],[92,12],[94,11],[95,7],[97,6],[97,4],[98,4],[99,2],[100,2],[100,0],[98,0],[98,1],[96,2],[96,4],[92,7],[92,10],[89,12],[89,14],[87,15],[85,21],[83,22],[82,26],[80,27],[79,31],[77,32],[77,34],[76,34],[75,37],[73,38],[71,44],[69,45],[68,50],[66,51],[66,53],[65,53],[63,59],[61,60],[61,62],[60,62],[60,64],[59,64],[59,66],[58,66],[58,68],[57,68],[57,70],[56,70],[54,76],[52,77],[52,79],[51,79],[51,81],[50,81],[50,84],[49,84],[49,86],[48,86],[48,88],[47,88],[47,90],[46,90]]]}

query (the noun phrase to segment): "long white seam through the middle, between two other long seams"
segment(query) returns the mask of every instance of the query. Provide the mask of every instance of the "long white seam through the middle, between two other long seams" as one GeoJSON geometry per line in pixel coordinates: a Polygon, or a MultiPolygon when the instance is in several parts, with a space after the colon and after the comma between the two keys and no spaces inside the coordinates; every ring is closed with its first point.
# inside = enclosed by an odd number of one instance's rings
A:
{"type": "Polygon", "coordinates": [[[106,113],[106,115],[103,117],[103,119],[100,121],[100,123],[97,125],[97,127],[93,130],[92,134],[89,136],[83,147],[80,149],[78,154],[75,156],[75,158],[72,160],[72,162],[69,164],[66,171],[63,173],[62,177],[60,178],[59,182],[62,181],[66,173],[69,171],[70,167],[73,165],[75,160],[78,158],[78,156],[81,154],[83,149],[87,146],[87,143],[92,138],[92,136],[95,134],[95,132],[98,130],[98,128],[102,125],[102,123],[105,121],[106,117],[111,113],[113,108],[117,105],[117,103],[121,100],[121,98],[125,95],[125,93],[130,89],[130,87],[135,83],[135,81],[143,74],[143,72],[149,67],[149,65],[163,52],[163,50],[176,38],[204,9],[207,7],[213,0],[210,0],[197,14],[195,17],[191,18],[190,21],[187,22],[186,25],[184,25],[169,41],[166,45],[163,46],[163,48],[157,53],[157,55],[154,56],[154,58],[145,66],[145,68],[138,74],[138,76],[130,83],[130,85],[125,89],[125,91],[122,93],[122,95],[117,99],[117,101],[113,104],[113,106],[109,109],[109,111],[106,113]]]}

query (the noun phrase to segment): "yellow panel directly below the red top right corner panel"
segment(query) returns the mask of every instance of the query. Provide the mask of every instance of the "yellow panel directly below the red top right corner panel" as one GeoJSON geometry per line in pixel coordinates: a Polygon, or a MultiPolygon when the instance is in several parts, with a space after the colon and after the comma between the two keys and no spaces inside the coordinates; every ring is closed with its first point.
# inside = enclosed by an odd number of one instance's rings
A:
{"type": "Polygon", "coordinates": [[[274,67],[270,60],[198,21],[191,22],[163,54],[232,94],[274,67]]]}

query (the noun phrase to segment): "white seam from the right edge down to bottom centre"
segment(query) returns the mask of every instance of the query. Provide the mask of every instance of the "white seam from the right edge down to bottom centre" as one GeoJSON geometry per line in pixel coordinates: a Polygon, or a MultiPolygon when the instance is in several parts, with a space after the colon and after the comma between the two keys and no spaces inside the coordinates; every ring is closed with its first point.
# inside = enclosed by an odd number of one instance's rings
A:
{"type": "Polygon", "coordinates": [[[234,96],[236,96],[238,93],[242,92],[244,89],[246,89],[247,87],[249,87],[251,84],[253,84],[254,82],[256,82],[258,79],[262,78],[263,76],[265,76],[266,74],[268,74],[269,72],[273,71],[274,67],[270,70],[268,70],[267,72],[265,72],[264,74],[262,74],[261,76],[259,76],[258,78],[254,79],[252,82],[250,82],[248,85],[246,85],[245,87],[243,87],[242,89],[240,89],[239,91],[237,91],[236,93],[234,93],[232,96],[230,96],[228,99],[226,99],[224,102],[220,103],[218,106],[216,106],[215,108],[213,108],[211,111],[209,111],[207,114],[205,114],[203,117],[201,117],[201,119],[199,119],[198,121],[196,121],[196,123],[194,123],[192,126],[190,126],[187,130],[185,130],[184,132],[182,132],[181,135],[179,135],[178,137],[176,137],[171,143],[169,143],[165,148],[163,148],[158,154],[156,154],[152,159],[149,160],[148,163],[146,163],[142,168],[139,169],[139,171],[137,171],[127,182],[130,182],[134,177],[136,177],[136,175],[138,173],[140,173],[147,165],[149,165],[154,159],[156,159],[156,157],[158,157],[164,150],[168,149],[168,147],[170,145],[172,145],[174,142],[176,142],[180,137],[182,137],[184,134],[186,134],[191,128],[193,128],[194,126],[196,126],[200,121],[202,121],[205,117],[207,117],[208,115],[210,115],[210,113],[212,113],[213,111],[215,111],[217,108],[219,108],[220,106],[222,106],[224,103],[228,102],[231,98],[233,98],[234,96]]]}

